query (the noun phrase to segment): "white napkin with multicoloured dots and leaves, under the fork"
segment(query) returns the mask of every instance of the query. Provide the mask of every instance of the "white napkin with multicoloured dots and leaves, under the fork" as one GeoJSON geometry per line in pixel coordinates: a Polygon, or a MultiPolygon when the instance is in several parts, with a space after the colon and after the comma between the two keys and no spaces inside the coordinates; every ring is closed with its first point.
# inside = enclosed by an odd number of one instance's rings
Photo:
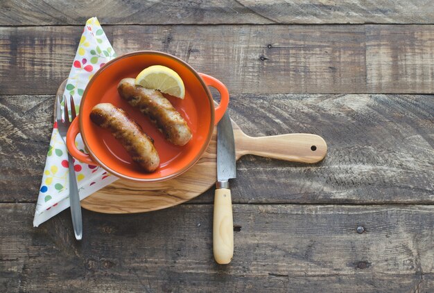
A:
{"type": "MultiPolygon", "coordinates": [[[[103,28],[96,17],[86,21],[83,35],[78,44],[76,57],[69,73],[64,96],[73,96],[76,112],[80,105],[81,96],[87,82],[104,64],[116,57],[112,45],[108,41],[103,28]]],[[[62,111],[63,111],[62,103],[62,111]]],[[[84,150],[83,141],[78,136],[78,149],[84,150]]],[[[57,215],[65,208],[69,208],[69,176],[68,176],[67,147],[59,135],[56,123],[46,157],[44,175],[35,211],[33,226],[57,215]]],[[[116,177],[108,174],[102,168],[74,161],[74,170],[78,181],[80,199],[92,195],[96,190],[116,181],[116,177]]]]}

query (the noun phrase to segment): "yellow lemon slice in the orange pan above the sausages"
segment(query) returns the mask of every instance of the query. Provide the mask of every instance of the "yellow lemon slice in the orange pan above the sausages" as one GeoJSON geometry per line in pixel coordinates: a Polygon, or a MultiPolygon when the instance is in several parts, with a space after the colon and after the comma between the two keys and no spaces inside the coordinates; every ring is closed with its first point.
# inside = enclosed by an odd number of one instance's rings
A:
{"type": "Polygon", "coordinates": [[[172,69],[154,65],[144,69],[136,78],[136,85],[141,85],[148,89],[158,89],[162,93],[184,98],[185,87],[180,76],[172,69]]]}

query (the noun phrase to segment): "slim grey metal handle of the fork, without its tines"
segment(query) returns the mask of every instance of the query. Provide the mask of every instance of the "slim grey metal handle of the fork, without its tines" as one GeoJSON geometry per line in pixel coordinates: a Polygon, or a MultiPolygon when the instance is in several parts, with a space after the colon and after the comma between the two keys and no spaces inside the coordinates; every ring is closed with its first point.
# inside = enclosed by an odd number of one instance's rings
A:
{"type": "Polygon", "coordinates": [[[80,195],[78,195],[78,186],[76,171],[73,166],[73,157],[68,153],[69,165],[69,202],[71,204],[71,217],[76,240],[83,237],[83,220],[81,218],[80,195]]]}

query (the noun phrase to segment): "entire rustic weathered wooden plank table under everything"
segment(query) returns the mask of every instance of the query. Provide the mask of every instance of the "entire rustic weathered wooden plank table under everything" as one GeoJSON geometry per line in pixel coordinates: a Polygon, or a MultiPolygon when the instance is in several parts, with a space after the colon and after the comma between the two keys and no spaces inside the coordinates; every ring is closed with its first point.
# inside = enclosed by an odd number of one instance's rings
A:
{"type": "Polygon", "coordinates": [[[0,3],[1,292],[433,292],[434,6],[397,1],[0,3]],[[219,78],[250,135],[319,134],[313,166],[243,157],[234,260],[214,188],[152,213],[69,210],[33,228],[54,94],[87,18],[121,55],[219,78]]]}

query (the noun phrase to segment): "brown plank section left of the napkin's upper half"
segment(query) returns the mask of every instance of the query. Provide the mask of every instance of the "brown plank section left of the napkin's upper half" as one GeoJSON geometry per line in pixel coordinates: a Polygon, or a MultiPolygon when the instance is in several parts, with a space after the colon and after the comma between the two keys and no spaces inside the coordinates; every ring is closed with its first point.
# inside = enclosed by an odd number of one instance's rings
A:
{"type": "Polygon", "coordinates": [[[0,94],[55,94],[71,70],[81,32],[73,26],[0,28],[0,94]]]}

